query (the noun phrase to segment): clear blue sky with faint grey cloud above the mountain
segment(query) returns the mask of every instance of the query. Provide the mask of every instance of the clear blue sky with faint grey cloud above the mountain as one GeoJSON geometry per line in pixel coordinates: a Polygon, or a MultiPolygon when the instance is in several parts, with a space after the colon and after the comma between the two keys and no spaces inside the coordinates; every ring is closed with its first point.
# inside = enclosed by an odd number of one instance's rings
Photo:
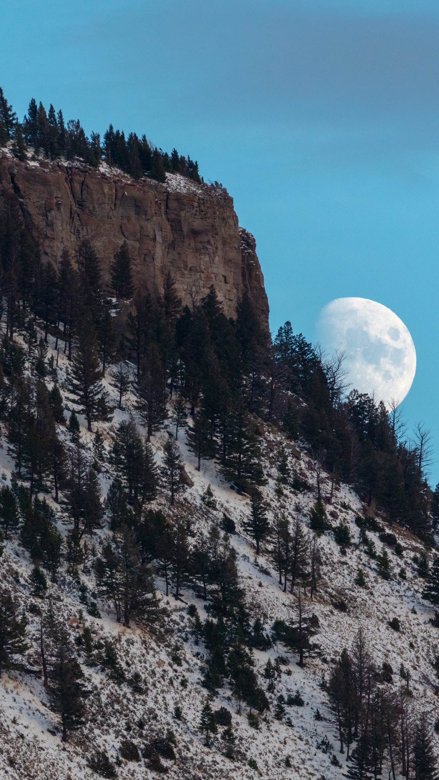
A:
{"type": "MultiPolygon", "coordinates": [[[[257,242],[276,331],[377,300],[412,334],[439,452],[437,0],[2,4],[0,84],[197,158],[257,242]]],[[[439,478],[439,456],[432,482],[439,478]]]]}

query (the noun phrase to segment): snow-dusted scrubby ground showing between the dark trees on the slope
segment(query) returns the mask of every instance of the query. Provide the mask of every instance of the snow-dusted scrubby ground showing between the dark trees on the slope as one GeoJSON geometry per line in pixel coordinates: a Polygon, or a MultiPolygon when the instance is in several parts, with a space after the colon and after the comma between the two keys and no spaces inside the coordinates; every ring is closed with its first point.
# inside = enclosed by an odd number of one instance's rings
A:
{"type": "MultiPolygon", "coordinates": [[[[54,340],[49,338],[49,341],[51,346],[48,357],[52,354],[56,358],[54,340]]],[[[60,350],[60,388],[66,378],[67,365],[68,361],[60,350]]],[[[47,382],[52,387],[52,381],[47,382]]],[[[116,404],[116,390],[108,383],[106,388],[116,404]]],[[[105,438],[106,459],[98,475],[103,496],[113,477],[108,456],[116,426],[120,420],[128,418],[130,413],[134,413],[134,416],[136,414],[134,396],[128,394],[123,400],[125,408],[123,412],[116,410],[112,423],[94,426],[99,427],[105,438]]],[[[66,406],[70,406],[68,402],[66,406]]],[[[66,412],[66,418],[68,416],[66,412]]],[[[80,418],[80,423],[81,441],[92,453],[94,434],[87,433],[83,418],[80,418]]],[[[141,434],[145,435],[138,418],[137,423],[141,434]]],[[[62,427],[59,430],[68,440],[66,430],[62,427]]],[[[262,492],[269,502],[270,516],[273,518],[275,512],[284,511],[291,521],[298,517],[306,533],[311,535],[308,529],[309,511],[316,502],[316,477],[309,469],[309,455],[301,452],[300,448],[296,449],[296,446],[291,450],[291,445],[285,442],[290,448],[287,452],[291,473],[295,472],[298,478],[306,480],[309,489],[298,493],[287,486],[284,495],[279,498],[275,490],[277,466],[274,453],[281,437],[269,426],[265,429],[261,427],[260,434],[262,463],[269,477],[262,492]]],[[[159,431],[152,438],[152,448],[159,465],[162,463],[162,446],[166,438],[166,430],[159,431]]],[[[177,498],[180,511],[191,519],[195,530],[205,528],[207,531],[212,522],[221,521],[223,512],[234,520],[237,533],[231,536],[231,544],[238,554],[246,604],[252,622],[260,618],[266,632],[270,633],[275,620],[284,619],[288,622],[294,619],[297,598],[294,594],[283,592],[278,573],[268,557],[267,545],[262,544],[261,554],[255,558],[255,545],[244,531],[244,520],[250,513],[248,497],[237,495],[212,461],[203,460],[201,472],[198,473],[195,456],[187,449],[183,431],[179,433],[178,444],[184,468],[194,483],[193,487],[187,488],[177,498]],[[208,509],[202,502],[201,496],[209,484],[216,499],[216,509],[208,509]]],[[[10,484],[12,470],[13,463],[3,435],[0,450],[3,484],[10,484]]],[[[329,491],[330,480],[323,478],[323,500],[329,491]]],[[[62,505],[55,504],[53,498],[46,498],[55,509],[59,531],[66,537],[66,516],[62,505]]],[[[165,488],[160,488],[159,497],[152,502],[152,506],[169,512],[169,498],[165,488]]],[[[66,565],[63,564],[58,582],[48,582],[44,601],[34,597],[29,581],[32,563],[20,545],[18,535],[11,534],[5,541],[0,558],[2,586],[14,594],[27,614],[29,649],[25,667],[30,671],[2,672],[0,777],[11,780],[97,778],[89,762],[97,751],[105,751],[119,778],[156,777],[157,771],[166,771],[170,778],[179,780],[238,780],[258,776],[267,780],[340,778],[341,773],[346,771],[346,753],[339,753],[337,724],[328,706],[329,699],[322,681],[329,678],[330,669],[343,648],[352,646],[360,625],[368,637],[377,668],[382,668],[383,663],[391,665],[393,679],[390,684],[395,692],[405,684],[400,676],[401,665],[409,670],[413,712],[425,712],[428,722],[433,725],[439,716],[439,681],[432,665],[439,654],[439,631],[429,622],[434,613],[421,597],[424,580],[418,576],[412,562],[413,555],[423,553],[423,545],[407,531],[392,527],[391,533],[398,537],[403,551],[396,555],[394,548],[386,547],[392,572],[391,579],[385,580],[378,573],[376,560],[366,555],[365,545],[360,544],[360,530],[355,524],[355,516],[362,516],[363,507],[358,496],[341,484],[340,489],[334,491],[332,505],[327,505],[327,514],[334,524],[339,519],[345,520],[352,543],[344,551],[336,544],[334,534],[330,531],[319,538],[321,578],[317,582],[312,604],[309,601],[309,589],[304,597],[309,614],[312,612],[318,618],[318,633],[312,641],[319,648],[311,657],[305,656],[303,668],[296,663],[297,654],[289,651],[281,642],[274,643],[267,651],[253,651],[254,668],[270,704],[269,711],[258,718],[248,718],[249,710],[244,704],[241,704],[241,712],[238,712],[237,701],[227,687],[211,700],[212,710],[226,707],[231,713],[231,725],[237,738],[234,759],[224,755],[223,727],[218,727],[209,747],[205,746],[205,737],[199,730],[202,708],[209,699],[208,691],[202,686],[205,647],[202,640],[195,643],[194,619],[188,612],[188,606],[196,605],[200,618],[205,620],[207,613],[201,589],[198,594],[191,587],[184,587],[180,599],[176,601],[171,594],[173,589],[166,598],[164,582],[157,580],[161,605],[166,608],[159,633],[152,633],[135,622],[131,628],[123,628],[116,622],[112,606],[105,600],[98,600],[98,610],[102,615],[100,618],[87,614],[87,598],[90,600],[93,597],[91,594],[94,594],[96,588],[90,566],[85,571],[80,569],[78,582],[66,572],[66,565]],[[398,576],[402,567],[406,571],[405,580],[398,576]],[[359,569],[366,579],[366,586],[363,587],[355,583],[359,569]],[[66,618],[73,640],[82,636],[87,626],[91,629],[95,646],[98,640],[101,644],[105,639],[115,640],[124,672],[124,682],[121,682],[122,678],[112,679],[108,670],[105,671],[94,660],[95,651],[91,652],[91,656],[88,655],[84,643],[77,640],[75,647],[78,660],[90,693],[86,700],[85,723],[71,734],[67,743],[61,741],[59,718],[48,707],[48,698],[39,673],[39,613],[49,600],[52,600],[56,614],[66,618]],[[394,618],[400,623],[399,630],[389,625],[394,618]],[[278,657],[281,657],[280,663],[276,663],[278,657]],[[273,666],[277,667],[272,692],[267,691],[264,676],[269,658],[273,666]],[[300,696],[296,696],[297,692],[300,696]],[[280,695],[284,697],[284,704],[281,700],[279,708],[280,695]],[[298,703],[287,704],[288,700],[294,698],[298,703]],[[282,707],[284,712],[280,712],[282,707]],[[173,750],[170,750],[170,757],[166,758],[162,754],[155,768],[148,768],[148,750],[144,750],[143,755],[139,753],[134,760],[121,756],[123,740],[134,743],[141,751],[145,745],[152,744],[154,739],[166,738],[167,729],[173,732],[173,735],[168,732],[167,742],[168,747],[173,745],[173,750]]],[[[385,530],[389,530],[388,527],[385,530]]],[[[98,531],[95,544],[98,545],[109,533],[106,529],[98,531]]],[[[369,538],[374,541],[377,552],[386,546],[381,543],[377,533],[370,532],[369,538]]],[[[427,551],[427,557],[431,560],[431,551],[427,551]]],[[[434,739],[439,752],[439,736],[434,735],[434,739]]]]}

